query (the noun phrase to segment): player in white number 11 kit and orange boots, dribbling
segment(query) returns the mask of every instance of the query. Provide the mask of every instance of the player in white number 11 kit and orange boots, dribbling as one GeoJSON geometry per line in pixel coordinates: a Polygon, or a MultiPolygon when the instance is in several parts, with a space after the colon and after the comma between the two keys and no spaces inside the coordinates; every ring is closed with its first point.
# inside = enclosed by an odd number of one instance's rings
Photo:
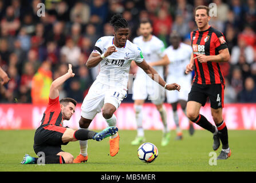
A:
{"type": "MultiPolygon", "coordinates": [[[[109,126],[116,126],[114,112],[119,108],[121,101],[127,96],[128,74],[131,62],[134,60],[145,73],[152,74],[154,79],[157,72],[145,62],[140,48],[128,40],[129,27],[127,21],[120,15],[113,15],[111,25],[114,27],[114,36],[101,37],[94,46],[86,66],[92,68],[100,63],[100,73],[81,106],[80,128],[88,128],[97,113],[102,110],[103,117],[109,126]]],[[[176,83],[167,84],[162,78],[159,85],[167,90],[180,90],[176,83]]],[[[110,137],[110,155],[119,152],[119,134],[110,137]]],[[[87,141],[80,141],[80,154],[74,163],[88,160],[87,141]]]]}

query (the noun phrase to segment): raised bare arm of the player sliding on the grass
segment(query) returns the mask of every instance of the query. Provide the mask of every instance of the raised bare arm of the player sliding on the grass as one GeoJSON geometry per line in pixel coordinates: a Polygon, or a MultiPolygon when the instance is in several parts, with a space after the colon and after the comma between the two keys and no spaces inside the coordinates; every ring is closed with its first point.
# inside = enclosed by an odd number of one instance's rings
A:
{"type": "Polygon", "coordinates": [[[50,93],[49,97],[54,99],[57,98],[59,95],[58,87],[60,87],[67,79],[74,77],[74,73],[72,71],[72,65],[69,64],[68,72],[61,77],[58,77],[52,82],[52,85],[50,85],[50,93]]]}

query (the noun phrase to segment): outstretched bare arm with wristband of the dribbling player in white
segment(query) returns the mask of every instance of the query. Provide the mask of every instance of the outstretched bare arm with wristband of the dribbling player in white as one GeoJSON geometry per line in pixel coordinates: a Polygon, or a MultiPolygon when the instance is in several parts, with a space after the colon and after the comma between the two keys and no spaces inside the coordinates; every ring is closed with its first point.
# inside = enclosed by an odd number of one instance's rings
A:
{"type": "Polygon", "coordinates": [[[160,77],[160,75],[157,73],[157,71],[155,69],[153,69],[153,67],[151,67],[150,65],[148,65],[148,63],[145,61],[145,59],[143,59],[142,62],[137,63],[137,66],[139,66],[141,69],[144,70],[145,73],[150,74],[151,75],[151,79],[153,79],[155,81],[155,75],[158,75],[158,83],[159,85],[163,86],[165,89],[167,90],[180,90],[180,85],[178,85],[177,83],[172,83],[172,84],[168,84],[164,81],[164,79],[162,77],[160,77]]]}

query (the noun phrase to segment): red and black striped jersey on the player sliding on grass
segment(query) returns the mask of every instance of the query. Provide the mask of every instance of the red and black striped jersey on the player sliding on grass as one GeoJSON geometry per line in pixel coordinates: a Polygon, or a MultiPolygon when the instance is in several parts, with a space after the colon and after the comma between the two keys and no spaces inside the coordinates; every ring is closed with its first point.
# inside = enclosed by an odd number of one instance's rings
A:
{"type": "Polygon", "coordinates": [[[51,99],[49,97],[49,102],[44,112],[44,116],[41,120],[41,125],[56,125],[63,126],[63,118],[61,113],[61,105],[59,97],[51,99]]]}

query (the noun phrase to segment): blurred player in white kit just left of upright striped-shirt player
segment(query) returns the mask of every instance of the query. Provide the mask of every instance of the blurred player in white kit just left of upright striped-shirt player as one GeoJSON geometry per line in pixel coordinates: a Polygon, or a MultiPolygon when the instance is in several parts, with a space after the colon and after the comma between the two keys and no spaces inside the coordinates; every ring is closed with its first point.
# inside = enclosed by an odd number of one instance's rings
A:
{"type": "MultiPolygon", "coordinates": [[[[167,82],[178,81],[182,86],[180,92],[168,92],[166,93],[167,102],[171,104],[173,110],[174,122],[176,125],[176,140],[182,140],[182,130],[179,127],[179,115],[177,106],[180,104],[183,113],[187,116],[186,106],[187,97],[191,89],[192,75],[186,74],[186,66],[190,63],[190,56],[192,53],[191,46],[182,43],[180,35],[174,31],[170,36],[171,46],[164,50],[164,59],[170,62],[167,67],[167,82]]],[[[166,62],[167,62],[166,61],[166,62]]],[[[194,133],[194,126],[190,122],[190,134],[194,133]]]]}

